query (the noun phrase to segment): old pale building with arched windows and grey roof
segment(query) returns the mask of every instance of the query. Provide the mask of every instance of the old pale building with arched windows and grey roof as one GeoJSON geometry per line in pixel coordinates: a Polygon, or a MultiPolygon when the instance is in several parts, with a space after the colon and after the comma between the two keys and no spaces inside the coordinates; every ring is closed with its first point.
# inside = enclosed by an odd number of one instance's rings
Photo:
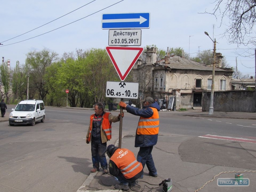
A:
{"type": "MultiPolygon", "coordinates": [[[[211,92],[212,66],[180,56],[165,56],[156,60],[156,49],[148,48],[146,63],[138,60],[133,67],[133,78],[139,82],[140,98],[151,96],[166,101],[175,97],[176,109],[202,106],[202,92],[211,92]]],[[[231,90],[233,71],[221,68],[221,53],[216,53],[214,91],[231,90]]]]}

